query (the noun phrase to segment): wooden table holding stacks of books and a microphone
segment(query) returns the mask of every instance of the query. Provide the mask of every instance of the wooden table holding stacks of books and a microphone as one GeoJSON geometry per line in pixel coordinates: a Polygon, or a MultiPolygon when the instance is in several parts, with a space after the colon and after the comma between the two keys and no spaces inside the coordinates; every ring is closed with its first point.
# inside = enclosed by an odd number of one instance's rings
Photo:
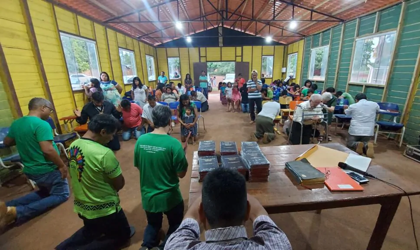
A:
{"type": "MultiPolygon", "coordinates": [[[[254,195],[268,213],[283,213],[321,210],[347,206],[380,204],[376,225],[370,236],[366,249],[380,249],[398,208],[404,192],[382,181],[370,179],[363,184],[361,192],[331,192],[327,187],[307,189],[293,183],[289,172],[284,171],[284,164],[294,160],[312,145],[285,145],[261,147],[261,151],[270,161],[270,176],[267,182],[247,182],[249,194],[254,195]]],[[[322,144],[322,146],[354,153],[339,143],[322,144]]],[[[198,155],[195,151],[192,160],[191,182],[189,187],[189,205],[201,193],[201,182],[198,182],[198,155]]],[[[420,194],[420,186],[396,175],[386,168],[371,163],[368,172],[374,176],[400,186],[408,195],[420,194]]]]}

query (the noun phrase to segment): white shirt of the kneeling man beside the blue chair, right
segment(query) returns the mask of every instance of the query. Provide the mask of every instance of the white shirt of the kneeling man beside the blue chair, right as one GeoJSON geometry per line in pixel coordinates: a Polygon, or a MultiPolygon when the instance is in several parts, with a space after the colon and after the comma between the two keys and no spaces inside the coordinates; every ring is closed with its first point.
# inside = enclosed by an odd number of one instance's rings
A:
{"type": "Polygon", "coordinates": [[[359,136],[372,136],[375,127],[376,113],[379,112],[376,102],[361,99],[351,104],[344,110],[346,115],[351,116],[348,133],[359,136]]]}

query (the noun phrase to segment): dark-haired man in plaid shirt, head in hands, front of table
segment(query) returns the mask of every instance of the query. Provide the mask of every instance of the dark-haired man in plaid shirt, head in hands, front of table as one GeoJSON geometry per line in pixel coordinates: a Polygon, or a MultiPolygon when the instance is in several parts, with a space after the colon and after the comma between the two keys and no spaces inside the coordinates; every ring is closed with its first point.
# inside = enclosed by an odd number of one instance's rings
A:
{"type": "Polygon", "coordinates": [[[256,198],[246,193],[245,178],[237,171],[216,168],[204,178],[201,196],[185,213],[165,249],[291,249],[287,236],[256,198]],[[250,219],[254,235],[246,235],[250,219]],[[200,223],[205,241],[200,241],[200,223]]]}

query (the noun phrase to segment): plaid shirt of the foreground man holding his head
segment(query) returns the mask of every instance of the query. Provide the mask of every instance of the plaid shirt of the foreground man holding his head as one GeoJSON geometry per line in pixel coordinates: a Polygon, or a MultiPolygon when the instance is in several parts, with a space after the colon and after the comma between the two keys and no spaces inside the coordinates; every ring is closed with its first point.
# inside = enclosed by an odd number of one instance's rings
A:
{"type": "Polygon", "coordinates": [[[182,220],[165,244],[165,249],[291,249],[290,242],[266,215],[258,216],[252,224],[254,236],[248,238],[244,226],[231,226],[205,231],[205,242],[199,240],[200,227],[192,218],[182,220]]]}

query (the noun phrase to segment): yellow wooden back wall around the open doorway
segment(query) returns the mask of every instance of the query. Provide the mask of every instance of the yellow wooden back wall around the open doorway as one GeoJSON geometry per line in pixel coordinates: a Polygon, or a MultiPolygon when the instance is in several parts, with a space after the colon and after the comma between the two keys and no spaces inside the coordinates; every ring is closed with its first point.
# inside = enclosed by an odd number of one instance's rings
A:
{"type": "MultiPolygon", "coordinates": [[[[303,43],[302,43],[303,44],[303,43]]],[[[303,50],[303,46],[301,48],[303,50]]],[[[168,75],[167,57],[179,56],[181,64],[181,79],[185,78],[185,74],[189,73],[191,78],[194,62],[206,61],[244,61],[249,62],[249,75],[255,69],[261,73],[262,55],[273,55],[273,78],[265,78],[266,83],[270,83],[274,79],[281,78],[281,68],[283,67],[283,51],[284,46],[239,46],[239,47],[190,47],[190,48],[156,48],[158,73],[165,71],[168,75]]],[[[303,54],[303,53],[301,53],[303,54]]],[[[300,57],[301,60],[301,57],[300,57]]],[[[298,65],[301,65],[298,64],[298,65]]],[[[299,71],[300,73],[300,71],[299,71]]],[[[171,80],[175,84],[181,80],[171,80]]]]}

